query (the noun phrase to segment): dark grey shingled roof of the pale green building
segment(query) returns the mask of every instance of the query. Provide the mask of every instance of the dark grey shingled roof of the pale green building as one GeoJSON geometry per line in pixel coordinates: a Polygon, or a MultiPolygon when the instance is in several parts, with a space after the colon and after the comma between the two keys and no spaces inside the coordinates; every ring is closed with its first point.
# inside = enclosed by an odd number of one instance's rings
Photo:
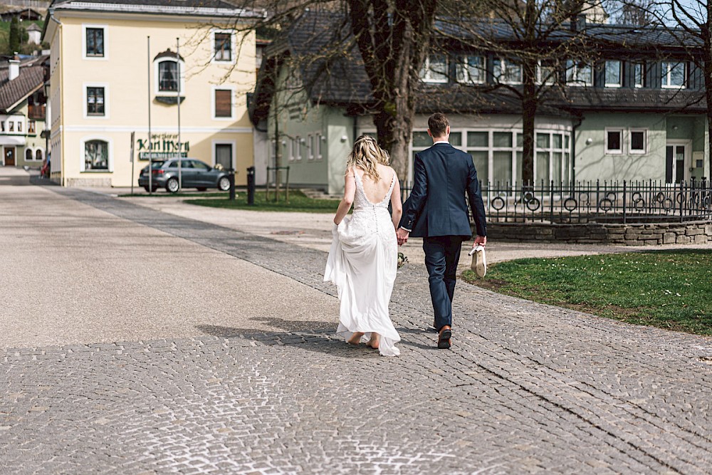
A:
{"type": "MultiPolygon", "coordinates": [[[[255,94],[251,98],[250,118],[257,124],[267,117],[274,90],[274,69],[287,58],[306,59],[297,61],[300,80],[305,84],[313,103],[340,105],[351,113],[368,110],[375,105],[371,94],[370,80],[355,41],[350,34],[350,24],[344,23],[343,14],[305,12],[292,28],[265,51],[266,60],[258,74],[255,94]],[[342,48],[334,48],[342,45],[342,48]]],[[[439,30],[446,36],[465,31],[442,21],[439,30]]],[[[493,28],[491,32],[499,41],[513,41],[511,30],[501,21],[483,21],[477,28],[493,28]]],[[[569,38],[572,31],[562,28],[552,41],[569,38]]],[[[595,38],[595,47],[611,48],[616,53],[639,56],[645,50],[683,51],[681,40],[696,46],[695,38],[682,31],[666,31],[664,28],[631,27],[618,25],[588,24],[586,34],[595,38]]],[[[416,111],[430,113],[443,110],[449,113],[521,113],[518,95],[506,88],[468,86],[457,83],[427,85],[419,83],[414,91],[417,96],[416,111]]],[[[552,90],[541,101],[538,114],[567,116],[584,110],[646,110],[701,112],[706,105],[703,90],[659,90],[650,88],[563,88],[552,90]]]]}

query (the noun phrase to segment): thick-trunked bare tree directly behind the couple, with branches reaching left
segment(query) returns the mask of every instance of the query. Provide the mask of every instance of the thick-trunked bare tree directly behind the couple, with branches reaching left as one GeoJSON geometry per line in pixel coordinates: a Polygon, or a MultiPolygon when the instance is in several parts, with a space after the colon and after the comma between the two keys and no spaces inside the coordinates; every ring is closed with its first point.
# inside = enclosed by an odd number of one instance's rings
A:
{"type": "MultiPolygon", "coordinates": [[[[244,9],[264,11],[252,24],[236,24],[242,31],[273,34],[286,31],[305,11],[332,14],[332,31],[313,32],[316,46],[292,56],[291,66],[308,71],[303,90],[324,88],[324,79],[341,61],[357,52],[370,83],[372,113],[379,144],[391,155],[399,177],[407,175],[408,150],[416,110],[414,91],[419,71],[434,34],[436,0],[233,0],[244,9]],[[326,40],[326,41],[325,41],[326,40]]],[[[462,2],[470,3],[470,2],[462,2]]],[[[323,25],[322,25],[323,26],[323,25]]]]}

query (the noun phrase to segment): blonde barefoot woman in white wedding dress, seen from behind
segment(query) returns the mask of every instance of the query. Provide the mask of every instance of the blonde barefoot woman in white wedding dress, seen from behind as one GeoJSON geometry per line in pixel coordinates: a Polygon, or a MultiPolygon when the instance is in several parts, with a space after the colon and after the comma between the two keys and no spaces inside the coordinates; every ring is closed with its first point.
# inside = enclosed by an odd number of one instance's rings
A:
{"type": "Polygon", "coordinates": [[[337,333],[352,345],[366,343],[384,356],[400,354],[388,303],[396,278],[401,214],[400,185],[388,166],[387,152],[372,137],[361,135],[346,164],[344,197],[334,216],[324,281],[335,283],[339,291],[337,333]]]}

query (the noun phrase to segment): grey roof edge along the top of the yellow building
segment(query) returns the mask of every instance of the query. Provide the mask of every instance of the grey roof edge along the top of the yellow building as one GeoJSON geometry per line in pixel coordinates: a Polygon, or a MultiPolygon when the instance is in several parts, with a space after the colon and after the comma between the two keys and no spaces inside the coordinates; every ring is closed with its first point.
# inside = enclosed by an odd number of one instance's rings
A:
{"type": "Polygon", "coordinates": [[[222,0],[53,0],[51,9],[105,11],[137,14],[252,17],[259,11],[239,9],[222,0]]]}

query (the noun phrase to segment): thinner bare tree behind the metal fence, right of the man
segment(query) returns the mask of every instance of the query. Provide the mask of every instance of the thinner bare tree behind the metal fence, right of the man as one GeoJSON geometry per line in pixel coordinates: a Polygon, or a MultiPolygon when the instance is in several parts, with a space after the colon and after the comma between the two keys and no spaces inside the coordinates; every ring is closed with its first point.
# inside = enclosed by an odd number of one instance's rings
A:
{"type": "MultiPolygon", "coordinates": [[[[522,181],[531,184],[535,179],[535,116],[543,103],[562,95],[567,80],[581,79],[577,71],[580,74],[582,68],[577,66],[590,65],[592,50],[585,47],[581,16],[591,13],[592,6],[585,0],[483,1],[491,18],[464,22],[453,16],[452,26],[459,36],[454,39],[497,56],[493,88],[505,89],[520,101],[522,181]],[[567,77],[562,77],[565,70],[567,77]]],[[[587,71],[592,78],[592,69],[587,71]]]]}

